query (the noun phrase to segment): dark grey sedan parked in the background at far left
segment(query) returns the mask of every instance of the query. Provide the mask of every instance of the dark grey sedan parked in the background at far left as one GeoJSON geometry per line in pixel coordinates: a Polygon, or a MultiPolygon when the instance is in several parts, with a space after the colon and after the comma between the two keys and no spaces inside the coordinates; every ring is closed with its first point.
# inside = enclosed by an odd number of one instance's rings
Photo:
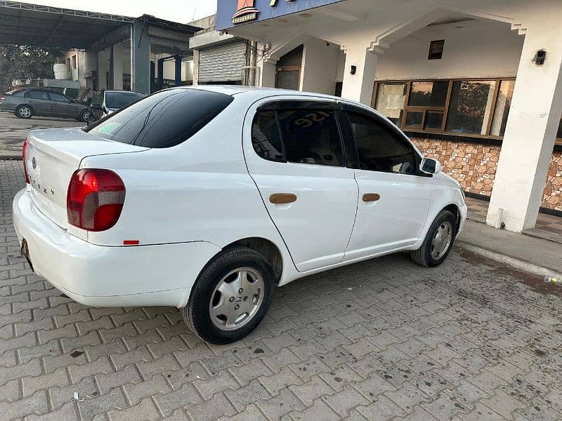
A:
{"type": "Polygon", "coordinates": [[[0,111],[13,112],[20,119],[50,116],[88,120],[88,107],[60,92],[42,88],[23,88],[0,95],[0,111]]]}

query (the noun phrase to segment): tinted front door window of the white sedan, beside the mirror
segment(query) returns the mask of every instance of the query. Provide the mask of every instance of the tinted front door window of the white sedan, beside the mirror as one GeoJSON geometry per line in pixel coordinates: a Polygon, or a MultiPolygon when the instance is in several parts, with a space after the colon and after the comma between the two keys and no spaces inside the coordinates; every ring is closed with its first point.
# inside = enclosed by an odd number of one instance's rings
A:
{"type": "Polygon", "coordinates": [[[414,174],[416,154],[411,145],[383,123],[348,113],[360,168],[384,173],[414,174]]]}

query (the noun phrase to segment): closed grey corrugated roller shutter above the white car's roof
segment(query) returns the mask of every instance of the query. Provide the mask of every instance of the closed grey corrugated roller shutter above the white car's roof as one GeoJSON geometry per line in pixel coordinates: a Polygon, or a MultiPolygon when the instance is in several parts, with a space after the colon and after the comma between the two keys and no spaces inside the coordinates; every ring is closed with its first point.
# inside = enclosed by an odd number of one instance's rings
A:
{"type": "Polygon", "coordinates": [[[237,42],[199,52],[200,83],[240,81],[246,65],[246,44],[237,42]]]}

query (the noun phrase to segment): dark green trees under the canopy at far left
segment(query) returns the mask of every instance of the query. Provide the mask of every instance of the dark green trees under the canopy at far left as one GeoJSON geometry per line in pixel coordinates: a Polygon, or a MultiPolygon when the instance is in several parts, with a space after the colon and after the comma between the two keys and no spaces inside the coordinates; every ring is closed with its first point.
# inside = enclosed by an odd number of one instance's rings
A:
{"type": "Polygon", "coordinates": [[[52,79],[57,55],[56,50],[0,44],[0,92],[13,79],[52,79]]]}

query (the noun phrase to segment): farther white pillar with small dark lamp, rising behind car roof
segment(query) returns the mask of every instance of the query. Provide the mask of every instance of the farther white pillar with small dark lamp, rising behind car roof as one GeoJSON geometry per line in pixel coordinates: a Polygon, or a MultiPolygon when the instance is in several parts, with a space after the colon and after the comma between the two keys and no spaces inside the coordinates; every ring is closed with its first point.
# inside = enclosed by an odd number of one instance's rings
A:
{"type": "Polygon", "coordinates": [[[378,57],[361,44],[348,45],[345,52],[346,65],[344,67],[344,86],[341,90],[341,96],[348,100],[371,105],[374,70],[377,68],[378,57]],[[352,66],[355,66],[355,74],[351,74],[352,66]]]}

